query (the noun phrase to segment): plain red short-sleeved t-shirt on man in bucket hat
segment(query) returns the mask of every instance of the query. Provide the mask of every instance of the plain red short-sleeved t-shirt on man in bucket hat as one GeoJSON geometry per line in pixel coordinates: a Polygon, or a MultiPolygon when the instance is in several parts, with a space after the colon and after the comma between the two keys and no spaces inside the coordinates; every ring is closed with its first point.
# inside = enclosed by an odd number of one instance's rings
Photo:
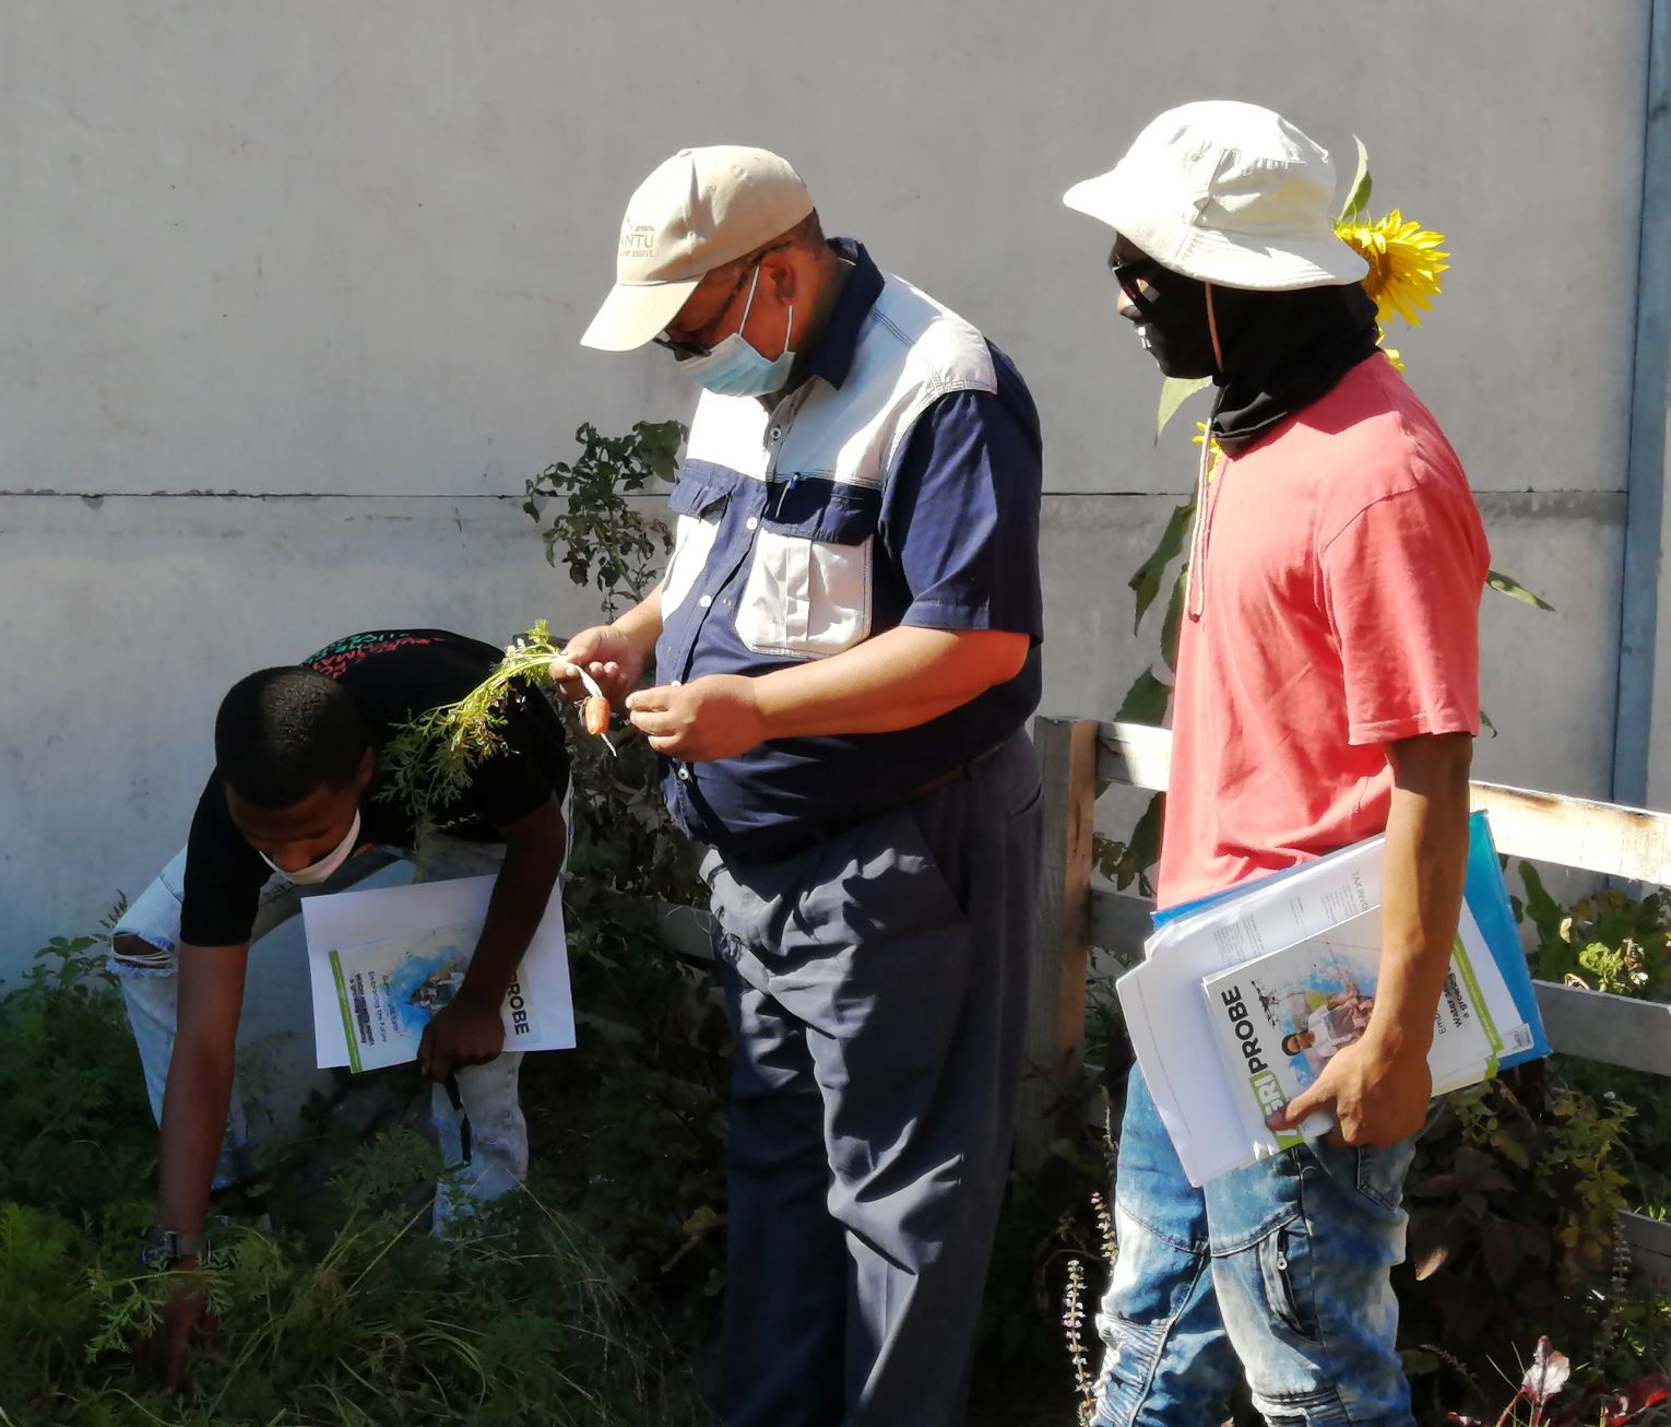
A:
{"type": "Polygon", "coordinates": [[[1178,638],[1163,907],[1384,832],[1380,745],[1479,732],[1486,531],[1384,356],[1222,461],[1205,540],[1201,613],[1178,638]]]}

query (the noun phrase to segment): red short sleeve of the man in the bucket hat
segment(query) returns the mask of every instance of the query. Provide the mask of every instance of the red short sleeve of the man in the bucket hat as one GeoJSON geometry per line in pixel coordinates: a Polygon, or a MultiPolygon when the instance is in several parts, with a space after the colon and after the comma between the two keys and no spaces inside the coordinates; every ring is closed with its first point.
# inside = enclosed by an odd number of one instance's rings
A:
{"type": "Polygon", "coordinates": [[[1347,737],[1479,734],[1486,531],[1460,478],[1439,475],[1359,511],[1322,551],[1347,737]]]}

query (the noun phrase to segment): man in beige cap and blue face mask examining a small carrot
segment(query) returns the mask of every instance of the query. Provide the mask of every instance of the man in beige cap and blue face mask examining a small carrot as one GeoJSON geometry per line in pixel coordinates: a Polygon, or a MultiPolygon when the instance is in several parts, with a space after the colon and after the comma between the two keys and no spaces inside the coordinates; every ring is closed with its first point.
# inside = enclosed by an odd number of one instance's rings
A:
{"type": "Polygon", "coordinates": [[[949,1427],[1038,877],[1038,416],[760,149],[658,167],[617,279],[585,341],[658,343],[703,393],[662,583],[556,670],[625,698],[707,847],[737,1031],[724,1420],[949,1427]]]}

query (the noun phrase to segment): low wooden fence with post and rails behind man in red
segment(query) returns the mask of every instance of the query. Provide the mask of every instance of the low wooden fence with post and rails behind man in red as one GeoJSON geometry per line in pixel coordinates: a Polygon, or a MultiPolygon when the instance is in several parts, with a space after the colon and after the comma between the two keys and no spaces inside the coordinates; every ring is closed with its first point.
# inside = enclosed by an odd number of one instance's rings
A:
{"type": "MultiPolygon", "coordinates": [[[[1141,907],[1091,886],[1091,814],[1108,784],[1161,792],[1171,734],[1141,724],[1039,717],[1033,740],[1044,769],[1041,912],[1028,1018],[1028,1084],[1019,1155],[1039,1161],[1053,1135],[1049,1106],[1083,1064],[1084,966],[1096,947],[1116,959],[1141,954],[1141,907]]],[[[1671,815],[1557,797],[1499,784],[1474,784],[1474,807],[1491,814],[1497,851],[1634,882],[1671,884],[1671,815]]],[[[1626,1069],[1671,1076],[1671,1006],[1534,983],[1549,1044],[1626,1069]]],[[[1621,1215],[1641,1282],[1671,1290],[1671,1223],[1621,1215]]]]}

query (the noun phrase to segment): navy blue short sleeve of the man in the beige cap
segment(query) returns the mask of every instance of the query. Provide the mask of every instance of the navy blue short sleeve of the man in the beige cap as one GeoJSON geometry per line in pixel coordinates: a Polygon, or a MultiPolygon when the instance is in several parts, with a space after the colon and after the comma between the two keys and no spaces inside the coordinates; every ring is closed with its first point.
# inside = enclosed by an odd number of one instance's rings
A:
{"type": "Polygon", "coordinates": [[[1044,637],[1038,424],[957,391],[917,418],[882,501],[882,543],[909,597],[901,623],[1044,637]]]}

